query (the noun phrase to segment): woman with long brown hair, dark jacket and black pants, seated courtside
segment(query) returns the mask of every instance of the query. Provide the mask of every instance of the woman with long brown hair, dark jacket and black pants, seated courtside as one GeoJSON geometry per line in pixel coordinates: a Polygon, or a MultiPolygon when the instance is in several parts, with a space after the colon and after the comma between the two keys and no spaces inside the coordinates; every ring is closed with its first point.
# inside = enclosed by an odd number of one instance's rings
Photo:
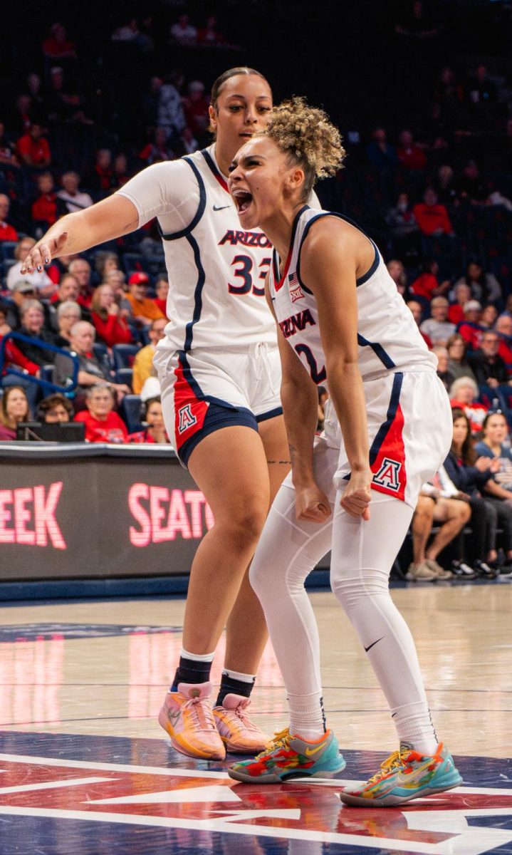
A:
{"type": "Polygon", "coordinates": [[[489,562],[497,561],[497,511],[482,498],[481,492],[492,477],[492,468],[497,466],[489,458],[477,457],[464,411],[456,408],[452,417],[453,441],[444,469],[456,488],[469,498],[474,554],[471,563],[479,575],[493,579],[496,572],[489,562]]]}

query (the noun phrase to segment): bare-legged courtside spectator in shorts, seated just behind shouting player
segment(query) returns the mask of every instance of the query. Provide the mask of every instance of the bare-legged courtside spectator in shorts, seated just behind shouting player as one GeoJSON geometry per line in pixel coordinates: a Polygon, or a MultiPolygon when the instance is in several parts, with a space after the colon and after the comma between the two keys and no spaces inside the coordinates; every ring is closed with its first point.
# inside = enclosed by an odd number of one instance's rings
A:
{"type": "MultiPolygon", "coordinates": [[[[462,532],[471,516],[469,503],[461,500],[462,494],[455,486],[453,490],[454,494],[450,496],[444,495],[440,486],[433,484],[425,484],[421,489],[411,523],[413,561],[406,575],[410,581],[434,581],[450,579],[452,576],[451,571],[444,569],[437,559],[462,532]],[[441,526],[427,546],[434,522],[440,522],[441,526]]],[[[461,562],[462,555],[459,552],[456,569],[459,569],[461,562]]]]}

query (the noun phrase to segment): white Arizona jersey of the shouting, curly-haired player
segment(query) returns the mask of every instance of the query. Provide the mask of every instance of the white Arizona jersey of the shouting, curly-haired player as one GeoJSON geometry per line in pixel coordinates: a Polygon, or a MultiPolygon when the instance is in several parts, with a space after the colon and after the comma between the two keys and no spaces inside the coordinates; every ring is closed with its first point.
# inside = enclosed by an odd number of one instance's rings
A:
{"type": "MultiPolygon", "coordinates": [[[[269,286],[274,311],[285,339],[315,383],[325,386],[326,360],[321,345],[316,300],[303,284],[300,274],[303,241],[309,227],[324,216],[338,216],[356,226],[341,214],[329,211],[319,213],[304,206],[297,213],[291,248],[282,274],[279,258],[273,251],[269,286]]],[[[375,245],[374,249],[374,263],[366,274],[356,280],[357,343],[362,379],[371,379],[385,371],[417,369],[435,372],[436,357],[428,351],[375,245]]]]}

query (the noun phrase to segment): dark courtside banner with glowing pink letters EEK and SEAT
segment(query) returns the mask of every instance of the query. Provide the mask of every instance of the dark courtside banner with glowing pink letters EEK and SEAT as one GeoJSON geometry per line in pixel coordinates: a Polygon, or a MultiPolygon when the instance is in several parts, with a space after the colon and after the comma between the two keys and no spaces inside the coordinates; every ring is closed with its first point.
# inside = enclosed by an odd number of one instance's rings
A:
{"type": "Polygon", "coordinates": [[[0,445],[0,581],[188,574],[213,522],[165,447],[0,445]]]}

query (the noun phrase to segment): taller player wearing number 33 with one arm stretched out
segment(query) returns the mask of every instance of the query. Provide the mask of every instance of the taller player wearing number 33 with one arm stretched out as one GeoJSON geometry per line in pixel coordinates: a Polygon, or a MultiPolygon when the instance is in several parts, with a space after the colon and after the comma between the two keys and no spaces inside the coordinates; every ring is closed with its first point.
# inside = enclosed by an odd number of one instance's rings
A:
{"type": "Polygon", "coordinates": [[[113,196],[63,217],[24,262],[25,270],[42,269],[158,218],[170,282],[170,320],[155,360],[162,410],[215,517],[192,563],[183,650],[159,720],[178,751],[206,759],[254,753],[268,742],[246,711],[267,633],[245,571],[289,454],[264,296],[271,246],[259,230],[240,230],[226,176],[271,106],[259,72],[221,74],[209,108],[214,144],[150,166],[113,196]],[[226,625],[226,667],[212,710],[209,673],[226,625]]]}

